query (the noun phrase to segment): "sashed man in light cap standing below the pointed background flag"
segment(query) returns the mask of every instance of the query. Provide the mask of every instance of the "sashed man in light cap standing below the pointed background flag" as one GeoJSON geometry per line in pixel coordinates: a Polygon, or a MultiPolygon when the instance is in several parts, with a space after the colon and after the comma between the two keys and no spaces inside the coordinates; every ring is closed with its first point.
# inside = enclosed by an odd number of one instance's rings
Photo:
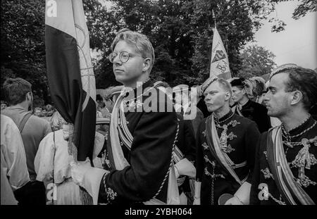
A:
{"type": "Polygon", "coordinates": [[[201,85],[211,116],[197,133],[197,175],[194,204],[249,204],[256,142],[260,132],[254,121],[233,113],[230,83],[209,78],[201,85]]]}

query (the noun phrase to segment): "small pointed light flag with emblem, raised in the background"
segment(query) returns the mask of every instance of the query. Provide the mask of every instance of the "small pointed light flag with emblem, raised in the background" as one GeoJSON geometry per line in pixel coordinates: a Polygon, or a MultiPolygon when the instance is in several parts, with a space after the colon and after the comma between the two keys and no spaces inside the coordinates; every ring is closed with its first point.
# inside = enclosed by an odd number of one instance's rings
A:
{"type": "Polygon", "coordinates": [[[211,51],[210,77],[216,75],[225,80],[231,78],[228,56],[217,27],[213,29],[213,47],[211,51]]]}

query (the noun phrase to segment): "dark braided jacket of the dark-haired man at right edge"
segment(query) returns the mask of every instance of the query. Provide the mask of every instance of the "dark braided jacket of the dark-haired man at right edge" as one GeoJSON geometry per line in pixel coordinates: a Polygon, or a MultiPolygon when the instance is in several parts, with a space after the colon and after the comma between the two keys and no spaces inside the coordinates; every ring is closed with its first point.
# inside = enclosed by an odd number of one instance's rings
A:
{"type": "MultiPolygon", "coordinates": [[[[292,142],[302,142],[303,138],[313,139],[317,137],[317,124],[316,120],[313,118],[309,118],[305,123],[295,128],[294,130],[290,130],[290,136],[297,137],[292,138],[292,142]],[[315,124],[313,126],[313,124],[315,124]],[[311,127],[311,129],[309,129],[311,127]],[[308,130],[309,129],[309,130],[308,130]],[[304,132],[306,130],[306,132],[304,132]],[[301,134],[304,132],[303,134],[301,134]]],[[[261,138],[259,140],[258,151],[256,152],[256,161],[254,164],[254,174],[252,179],[251,186],[251,194],[250,194],[250,204],[261,204],[261,205],[275,205],[282,204],[285,200],[282,199],[282,196],[278,190],[277,185],[275,184],[275,179],[272,174],[271,168],[268,165],[267,158],[267,137],[268,132],[264,132],[261,134],[261,138]],[[266,187],[270,196],[263,194],[261,187],[266,187]]],[[[284,141],[285,138],[282,137],[284,141]]],[[[311,157],[311,167],[310,169],[305,168],[304,173],[306,175],[305,180],[299,180],[299,168],[297,165],[292,164],[295,157],[299,153],[299,150],[303,148],[303,145],[297,145],[293,148],[289,148],[285,144],[283,144],[284,151],[286,153],[287,163],[290,165],[290,170],[295,177],[295,180],[298,180],[300,186],[304,191],[313,199],[315,204],[317,204],[317,140],[316,143],[311,143],[309,147],[309,155],[311,157]]]]}

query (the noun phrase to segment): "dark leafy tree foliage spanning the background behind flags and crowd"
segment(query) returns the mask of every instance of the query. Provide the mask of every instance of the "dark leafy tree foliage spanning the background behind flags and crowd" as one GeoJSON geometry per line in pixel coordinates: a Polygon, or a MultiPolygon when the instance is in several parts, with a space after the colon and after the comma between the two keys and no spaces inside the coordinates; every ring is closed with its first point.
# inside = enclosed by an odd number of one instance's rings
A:
{"type": "MultiPolygon", "coordinates": [[[[285,23],[268,16],[279,1],[114,0],[113,6],[106,8],[103,0],[83,0],[90,47],[98,54],[93,59],[97,88],[119,85],[108,54],[113,38],[123,27],[149,37],[156,53],[151,77],[171,86],[198,84],[209,76],[215,20],[228,52],[232,75],[267,73],[273,66],[273,54],[259,47],[246,49],[245,45],[254,39],[264,19],[273,24],[272,31],[284,30],[285,23]],[[249,63],[246,58],[249,52],[261,54],[266,61],[261,65],[253,65],[259,60],[249,63]]],[[[23,77],[32,83],[37,99],[47,104],[50,98],[44,8],[43,0],[1,1],[1,87],[8,77],[23,77]]],[[[316,1],[302,0],[293,18],[298,19],[309,11],[316,11],[316,1]]]]}

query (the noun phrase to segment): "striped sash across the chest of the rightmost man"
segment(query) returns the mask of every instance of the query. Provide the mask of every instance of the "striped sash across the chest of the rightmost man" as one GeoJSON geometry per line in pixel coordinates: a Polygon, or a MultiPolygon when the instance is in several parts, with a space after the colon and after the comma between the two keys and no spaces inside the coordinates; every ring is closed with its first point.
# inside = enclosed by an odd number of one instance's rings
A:
{"type": "Polygon", "coordinates": [[[277,126],[268,132],[267,147],[268,165],[275,183],[287,204],[314,205],[311,197],[294,180],[294,175],[287,163],[282,144],[282,128],[277,126]]]}

